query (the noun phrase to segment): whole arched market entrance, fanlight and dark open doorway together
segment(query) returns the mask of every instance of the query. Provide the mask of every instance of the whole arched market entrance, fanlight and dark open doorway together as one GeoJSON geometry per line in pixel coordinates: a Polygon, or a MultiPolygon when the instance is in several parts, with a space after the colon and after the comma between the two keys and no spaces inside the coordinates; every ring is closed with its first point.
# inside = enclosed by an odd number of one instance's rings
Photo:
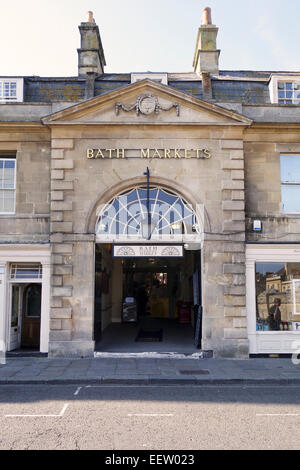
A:
{"type": "Polygon", "coordinates": [[[160,185],[133,186],[98,207],[96,350],[195,350],[202,221],[199,207],[160,185]]]}

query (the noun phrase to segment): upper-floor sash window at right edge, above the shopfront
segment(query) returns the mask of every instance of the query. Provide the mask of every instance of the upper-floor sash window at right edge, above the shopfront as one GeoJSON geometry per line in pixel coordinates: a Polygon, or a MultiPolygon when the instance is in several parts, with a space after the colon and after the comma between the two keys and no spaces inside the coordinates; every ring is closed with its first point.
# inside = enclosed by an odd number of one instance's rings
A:
{"type": "Polygon", "coordinates": [[[281,155],[281,201],[284,212],[300,212],[300,155],[281,155]]]}

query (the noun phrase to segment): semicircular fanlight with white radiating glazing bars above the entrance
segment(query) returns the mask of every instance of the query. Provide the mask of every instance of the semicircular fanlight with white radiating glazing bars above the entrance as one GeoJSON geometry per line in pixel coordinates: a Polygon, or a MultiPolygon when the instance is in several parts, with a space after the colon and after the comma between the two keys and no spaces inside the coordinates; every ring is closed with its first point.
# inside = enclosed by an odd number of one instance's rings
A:
{"type": "Polygon", "coordinates": [[[98,238],[184,239],[199,233],[191,204],[159,187],[136,187],[105,205],[98,217],[98,238]]]}

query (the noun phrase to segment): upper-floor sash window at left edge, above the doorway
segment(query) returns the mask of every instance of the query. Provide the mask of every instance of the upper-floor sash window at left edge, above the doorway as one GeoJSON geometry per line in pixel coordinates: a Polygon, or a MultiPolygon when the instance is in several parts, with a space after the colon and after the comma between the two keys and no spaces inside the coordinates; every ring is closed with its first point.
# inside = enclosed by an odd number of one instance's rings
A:
{"type": "Polygon", "coordinates": [[[16,195],[16,159],[0,157],[0,214],[14,214],[16,195]]]}

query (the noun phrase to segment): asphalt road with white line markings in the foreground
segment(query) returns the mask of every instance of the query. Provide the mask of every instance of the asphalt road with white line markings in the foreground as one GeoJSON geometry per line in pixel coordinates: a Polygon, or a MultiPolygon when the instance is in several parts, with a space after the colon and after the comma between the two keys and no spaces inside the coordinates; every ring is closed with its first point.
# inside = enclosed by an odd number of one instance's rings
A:
{"type": "Polygon", "coordinates": [[[0,449],[300,449],[300,387],[2,385],[0,449]]]}

